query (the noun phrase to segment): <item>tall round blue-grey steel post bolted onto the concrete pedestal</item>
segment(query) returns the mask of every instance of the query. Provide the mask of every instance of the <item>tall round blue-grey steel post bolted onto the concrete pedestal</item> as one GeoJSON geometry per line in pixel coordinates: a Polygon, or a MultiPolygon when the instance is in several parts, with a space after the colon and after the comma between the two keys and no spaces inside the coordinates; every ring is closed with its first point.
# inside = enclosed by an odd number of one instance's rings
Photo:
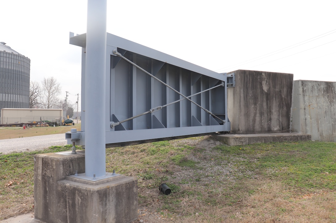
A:
{"type": "Polygon", "coordinates": [[[88,0],[85,65],[85,175],[106,175],[106,18],[107,0],[88,0]]]}

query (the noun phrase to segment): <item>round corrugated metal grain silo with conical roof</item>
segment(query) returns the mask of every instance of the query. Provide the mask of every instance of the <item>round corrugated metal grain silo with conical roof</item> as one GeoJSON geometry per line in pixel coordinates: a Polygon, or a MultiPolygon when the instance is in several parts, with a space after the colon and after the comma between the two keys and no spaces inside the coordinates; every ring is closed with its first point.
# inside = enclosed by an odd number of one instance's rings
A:
{"type": "Polygon", "coordinates": [[[30,59],[0,42],[0,109],[29,108],[29,83],[30,59]]]}

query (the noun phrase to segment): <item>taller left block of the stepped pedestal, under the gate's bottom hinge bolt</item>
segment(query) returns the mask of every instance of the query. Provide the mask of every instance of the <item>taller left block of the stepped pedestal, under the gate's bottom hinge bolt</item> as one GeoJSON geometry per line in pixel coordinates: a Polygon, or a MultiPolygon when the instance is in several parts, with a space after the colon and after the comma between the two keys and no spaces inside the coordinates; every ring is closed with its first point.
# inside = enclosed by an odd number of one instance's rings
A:
{"type": "Polygon", "coordinates": [[[64,215],[64,210],[58,209],[62,195],[57,193],[57,182],[69,175],[85,172],[85,153],[77,154],[46,153],[34,156],[34,216],[45,222],[56,221],[64,215]],[[68,154],[68,155],[63,155],[68,154]]]}

